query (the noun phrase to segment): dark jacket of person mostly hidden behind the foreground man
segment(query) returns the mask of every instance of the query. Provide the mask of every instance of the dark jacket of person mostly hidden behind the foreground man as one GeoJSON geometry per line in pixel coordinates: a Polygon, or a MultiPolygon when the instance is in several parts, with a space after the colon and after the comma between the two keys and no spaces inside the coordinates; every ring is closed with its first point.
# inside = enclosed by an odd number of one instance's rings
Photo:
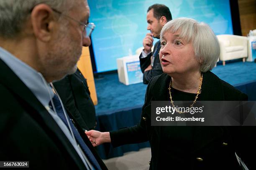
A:
{"type": "Polygon", "coordinates": [[[61,100],[78,124],[84,130],[92,130],[96,126],[95,107],[90,97],[87,81],[79,69],[62,80],[54,82],[61,100]]]}

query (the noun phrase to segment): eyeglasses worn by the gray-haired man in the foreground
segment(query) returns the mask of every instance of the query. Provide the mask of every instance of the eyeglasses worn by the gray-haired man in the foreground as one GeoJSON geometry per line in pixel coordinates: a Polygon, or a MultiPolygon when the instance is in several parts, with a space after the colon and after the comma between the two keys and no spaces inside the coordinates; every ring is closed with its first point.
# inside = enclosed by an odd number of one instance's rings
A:
{"type": "Polygon", "coordinates": [[[95,28],[95,26],[96,26],[94,23],[88,23],[88,24],[82,23],[82,22],[80,22],[80,21],[78,21],[78,20],[76,20],[76,19],[70,17],[69,15],[65,15],[65,14],[61,13],[61,12],[58,11],[58,10],[55,10],[55,9],[53,9],[53,8],[51,8],[51,9],[52,9],[55,13],[58,13],[58,14],[60,14],[60,15],[64,15],[65,17],[67,17],[67,18],[69,18],[69,19],[71,19],[71,20],[73,20],[73,21],[79,23],[80,25],[82,25],[82,26],[83,26],[83,36],[84,36],[84,37],[90,37],[90,35],[92,34],[92,31],[94,30],[94,28],[95,28]]]}

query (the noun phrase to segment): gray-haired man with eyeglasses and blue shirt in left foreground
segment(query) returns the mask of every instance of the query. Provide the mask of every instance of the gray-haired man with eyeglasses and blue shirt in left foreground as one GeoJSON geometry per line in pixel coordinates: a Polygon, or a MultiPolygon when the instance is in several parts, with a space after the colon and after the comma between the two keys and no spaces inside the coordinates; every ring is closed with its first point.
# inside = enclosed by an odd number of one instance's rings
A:
{"type": "Polygon", "coordinates": [[[51,87],[91,43],[87,0],[1,0],[0,9],[0,160],[107,169],[51,87]]]}

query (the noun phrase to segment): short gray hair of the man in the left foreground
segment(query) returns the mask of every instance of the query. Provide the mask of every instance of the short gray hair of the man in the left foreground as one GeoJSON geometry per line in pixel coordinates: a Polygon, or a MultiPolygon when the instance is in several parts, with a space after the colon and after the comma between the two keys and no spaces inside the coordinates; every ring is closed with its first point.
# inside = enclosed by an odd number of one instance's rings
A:
{"type": "Polygon", "coordinates": [[[13,38],[18,35],[33,7],[40,3],[65,13],[72,7],[70,2],[72,0],[0,0],[0,36],[13,38]]]}

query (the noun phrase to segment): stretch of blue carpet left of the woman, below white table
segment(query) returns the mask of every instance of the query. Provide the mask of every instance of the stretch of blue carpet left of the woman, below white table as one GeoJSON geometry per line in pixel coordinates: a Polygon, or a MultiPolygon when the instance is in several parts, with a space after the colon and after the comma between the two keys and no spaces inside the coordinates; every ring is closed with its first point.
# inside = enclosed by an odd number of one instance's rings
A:
{"type": "Polygon", "coordinates": [[[102,75],[95,79],[98,105],[95,106],[97,115],[130,110],[132,107],[143,105],[147,85],[137,83],[124,85],[119,82],[118,74],[102,75]]]}

